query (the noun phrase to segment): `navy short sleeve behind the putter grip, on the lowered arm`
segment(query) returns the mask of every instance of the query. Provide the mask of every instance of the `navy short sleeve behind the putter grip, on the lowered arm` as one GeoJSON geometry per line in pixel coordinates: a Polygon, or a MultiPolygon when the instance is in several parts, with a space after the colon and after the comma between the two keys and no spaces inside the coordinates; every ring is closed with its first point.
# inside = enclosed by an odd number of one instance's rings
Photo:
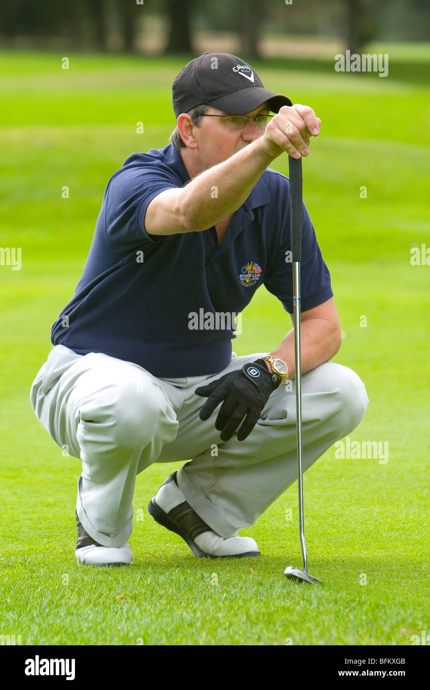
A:
{"type": "MultiPolygon", "coordinates": [[[[284,309],[293,313],[293,264],[291,263],[291,235],[289,204],[286,208],[280,234],[280,242],[269,275],[264,285],[275,297],[280,299],[284,309]]],[[[302,211],[302,261],[300,262],[301,309],[307,311],[333,297],[331,278],[315,229],[303,204],[302,211]]]]}

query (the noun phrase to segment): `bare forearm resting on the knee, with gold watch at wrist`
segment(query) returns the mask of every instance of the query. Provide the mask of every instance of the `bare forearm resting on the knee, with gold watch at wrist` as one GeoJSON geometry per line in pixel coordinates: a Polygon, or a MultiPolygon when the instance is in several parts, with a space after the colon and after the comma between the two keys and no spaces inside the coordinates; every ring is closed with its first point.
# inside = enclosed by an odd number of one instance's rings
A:
{"type": "MultiPolygon", "coordinates": [[[[339,351],[341,339],[338,328],[325,319],[308,319],[300,324],[302,374],[329,362],[339,351]]],[[[282,359],[288,366],[289,379],[295,378],[294,328],[286,334],[282,343],[273,352],[273,357],[282,359]]]]}

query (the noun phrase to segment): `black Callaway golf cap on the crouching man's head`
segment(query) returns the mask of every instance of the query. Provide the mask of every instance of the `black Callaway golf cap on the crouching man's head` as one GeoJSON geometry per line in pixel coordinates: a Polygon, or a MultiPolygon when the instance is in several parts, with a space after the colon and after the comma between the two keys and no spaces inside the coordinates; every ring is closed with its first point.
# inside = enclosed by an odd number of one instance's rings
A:
{"type": "Polygon", "coordinates": [[[286,96],[264,88],[252,67],[227,52],[204,52],[188,62],[172,91],[176,118],[203,103],[233,115],[244,115],[266,101],[273,112],[293,105],[286,96]]]}

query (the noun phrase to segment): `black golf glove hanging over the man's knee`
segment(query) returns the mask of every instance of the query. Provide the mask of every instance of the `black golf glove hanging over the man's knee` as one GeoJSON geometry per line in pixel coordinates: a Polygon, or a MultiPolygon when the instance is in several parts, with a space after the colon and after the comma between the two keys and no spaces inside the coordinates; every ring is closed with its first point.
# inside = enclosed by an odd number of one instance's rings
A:
{"type": "Polygon", "coordinates": [[[196,388],[196,395],[208,396],[199,417],[203,421],[207,420],[215,407],[224,400],[215,421],[215,428],[222,432],[222,440],[228,441],[246,417],[237,432],[237,440],[244,441],[257,424],[264,405],[280,382],[277,374],[268,371],[263,359],[248,362],[242,369],[224,374],[207,386],[196,388]]]}

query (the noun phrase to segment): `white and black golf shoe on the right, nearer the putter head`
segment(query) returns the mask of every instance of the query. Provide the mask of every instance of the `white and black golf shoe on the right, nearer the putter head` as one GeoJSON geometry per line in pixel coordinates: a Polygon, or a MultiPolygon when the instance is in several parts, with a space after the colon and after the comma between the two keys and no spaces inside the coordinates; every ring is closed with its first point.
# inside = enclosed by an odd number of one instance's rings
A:
{"type": "Polygon", "coordinates": [[[154,520],[179,534],[198,558],[244,558],[259,556],[256,542],[249,537],[223,539],[203,522],[185,500],[176,481],[176,472],[160,486],[148,504],[154,520]]]}

